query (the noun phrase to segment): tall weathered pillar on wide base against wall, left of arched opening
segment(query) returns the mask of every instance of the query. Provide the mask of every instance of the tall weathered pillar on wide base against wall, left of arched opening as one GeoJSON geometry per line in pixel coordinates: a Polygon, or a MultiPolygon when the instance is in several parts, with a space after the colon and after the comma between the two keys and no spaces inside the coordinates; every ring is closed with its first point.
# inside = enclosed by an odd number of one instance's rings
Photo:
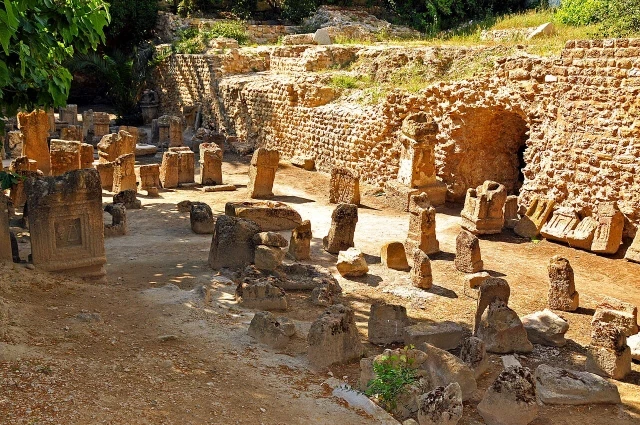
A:
{"type": "Polygon", "coordinates": [[[434,148],[437,134],[438,125],[426,112],[410,114],[402,122],[398,178],[385,185],[391,206],[408,211],[411,196],[423,192],[431,205],[444,204],[447,186],[436,177],[434,148]]]}

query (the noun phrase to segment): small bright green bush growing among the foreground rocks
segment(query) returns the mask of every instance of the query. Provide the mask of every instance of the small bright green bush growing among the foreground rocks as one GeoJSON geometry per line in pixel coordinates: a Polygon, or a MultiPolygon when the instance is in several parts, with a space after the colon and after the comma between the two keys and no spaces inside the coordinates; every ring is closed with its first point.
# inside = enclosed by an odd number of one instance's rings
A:
{"type": "Polygon", "coordinates": [[[385,409],[395,410],[398,397],[406,391],[407,385],[418,380],[415,369],[411,368],[412,362],[406,354],[392,355],[374,362],[376,377],[369,382],[365,393],[377,396],[385,409]]]}

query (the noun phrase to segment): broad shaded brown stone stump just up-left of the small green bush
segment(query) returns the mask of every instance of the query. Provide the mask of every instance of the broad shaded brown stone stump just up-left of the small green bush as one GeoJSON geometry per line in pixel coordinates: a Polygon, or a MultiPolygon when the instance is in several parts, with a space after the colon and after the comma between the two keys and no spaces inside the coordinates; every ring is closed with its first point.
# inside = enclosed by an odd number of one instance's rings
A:
{"type": "Polygon", "coordinates": [[[309,362],[315,367],[342,364],[362,357],[353,310],[342,304],[329,307],[309,329],[309,362]]]}

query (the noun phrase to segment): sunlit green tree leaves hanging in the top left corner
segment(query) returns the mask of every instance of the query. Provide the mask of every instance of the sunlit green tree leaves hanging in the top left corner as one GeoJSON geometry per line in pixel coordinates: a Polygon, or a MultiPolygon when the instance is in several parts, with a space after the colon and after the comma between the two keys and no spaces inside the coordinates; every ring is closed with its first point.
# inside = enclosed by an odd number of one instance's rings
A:
{"type": "Polygon", "coordinates": [[[103,0],[0,1],[0,113],[65,105],[63,62],[104,42],[109,19],[103,0]]]}

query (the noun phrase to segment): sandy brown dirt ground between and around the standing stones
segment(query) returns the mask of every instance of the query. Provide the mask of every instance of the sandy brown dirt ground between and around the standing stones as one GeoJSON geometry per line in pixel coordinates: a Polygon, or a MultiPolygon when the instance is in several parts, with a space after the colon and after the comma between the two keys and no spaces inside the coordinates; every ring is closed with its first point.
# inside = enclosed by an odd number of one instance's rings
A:
{"type": "MultiPolygon", "coordinates": [[[[191,188],[163,191],[159,198],[141,195],[143,209],[128,211],[128,234],[105,241],[106,284],[26,264],[0,265],[0,325],[3,320],[7,325],[4,333],[0,326],[0,424],[375,423],[321,385],[333,375],[355,386],[357,363],[330,370],[307,364],[305,335],[322,312],[308,293],[290,294],[292,308],[284,315],[295,322],[299,336],[282,351],[247,335],[253,312],[235,304],[234,285],[215,284],[210,303],[202,297],[200,288],[211,285],[216,274],[207,266],[211,236],[192,233],[189,214],[178,212],[176,204],[204,201],[222,214],[226,202],[245,200],[248,159],[226,155],[225,183],[236,184],[235,192],[191,188]]],[[[378,299],[405,305],[416,322],[453,320],[470,333],[475,301],[463,294],[463,275],[453,265],[460,206],[438,210],[442,252],[432,258],[435,284],[418,290],[408,273],[386,270],[379,258],[382,243],[405,239],[407,213],[389,209],[379,191],[365,186],[355,244],[367,255],[370,272],[346,280],[335,269],[335,256],[321,249],[334,208],[328,181],[326,174],[281,164],[274,192],[276,200],[311,220],[310,263],[329,267],[338,278],[341,301],[355,309],[363,341],[370,304],[378,299]]],[[[105,192],[103,200],[110,202],[111,194],[105,192]]],[[[21,256],[27,258],[28,234],[21,241],[21,256]]],[[[570,342],[561,349],[536,346],[520,356],[532,370],[541,363],[584,368],[590,319],[602,296],[640,305],[640,265],[620,254],[596,256],[510,231],[482,238],[481,248],[485,268],[510,283],[510,306],[521,316],[545,308],[551,256],[566,256],[575,270],[581,308],[561,314],[571,326],[570,342]]],[[[366,348],[369,355],[382,351],[371,344],[366,348]]],[[[483,423],[475,406],[500,372],[500,358],[492,355],[491,364],[474,398],[465,402],[460,424],[483,423]]],[[[619,406],[541,406],[533,424],[640,423],[640,365],[616,385],[619,406]]]]}

